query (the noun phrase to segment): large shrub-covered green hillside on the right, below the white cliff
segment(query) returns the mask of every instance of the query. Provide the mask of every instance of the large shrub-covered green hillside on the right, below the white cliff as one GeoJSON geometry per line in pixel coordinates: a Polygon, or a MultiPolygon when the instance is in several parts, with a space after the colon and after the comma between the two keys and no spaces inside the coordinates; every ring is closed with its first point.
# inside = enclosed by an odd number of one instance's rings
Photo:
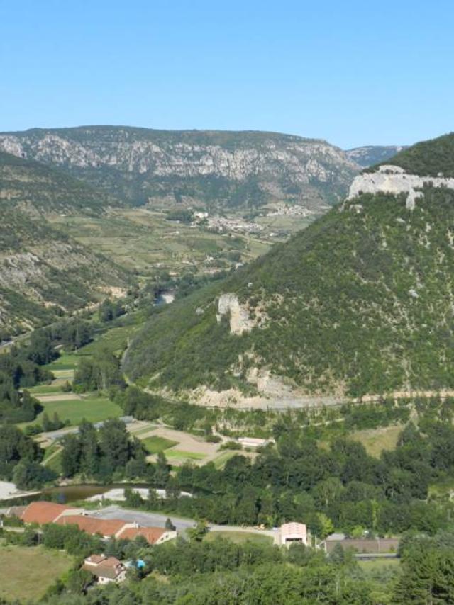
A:
{"type": "Polygon", "coordinates": [[[365,195],[335,208],[221,284],[163,310],[135,339],[126,371],[175,390],[248,388],[251,366],[306,392],[350,395],[454,386],[454,192],[365,195]],[[236,293],[262,327],[216,320],[236,293]]]}

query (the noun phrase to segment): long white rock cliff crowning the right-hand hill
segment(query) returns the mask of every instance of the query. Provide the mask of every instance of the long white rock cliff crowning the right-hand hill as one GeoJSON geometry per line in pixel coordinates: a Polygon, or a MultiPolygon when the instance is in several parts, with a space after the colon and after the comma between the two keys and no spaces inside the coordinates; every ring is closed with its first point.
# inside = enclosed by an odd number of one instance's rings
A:
{"type": "Polygon", "coordinates": [[[443,176],[418,176],[406,174],[400,166],[391,164],[380,166],[377,172],[366,172],[355,176],[350,186],[348,199],[351,200],[360,193],[406,193],[406,208],[413,210],[416,200],[422,196],[419,191],[424,185],[434,187],[445,186],[454,189],[454,179],[445,179],[443,176]]]}

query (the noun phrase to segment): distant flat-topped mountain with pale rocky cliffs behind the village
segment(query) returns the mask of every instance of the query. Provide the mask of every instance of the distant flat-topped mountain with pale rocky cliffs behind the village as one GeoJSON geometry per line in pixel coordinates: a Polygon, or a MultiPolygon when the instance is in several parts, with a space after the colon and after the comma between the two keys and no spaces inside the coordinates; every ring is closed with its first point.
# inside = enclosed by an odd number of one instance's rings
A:
{"type": "Polygon", "coordinates": [[[64,168],[133,204],[250,212],[270,201],[322,210],[359,166],[323,140],[275,132],[126,126],[5,132],[0,149],[64,168]]]}

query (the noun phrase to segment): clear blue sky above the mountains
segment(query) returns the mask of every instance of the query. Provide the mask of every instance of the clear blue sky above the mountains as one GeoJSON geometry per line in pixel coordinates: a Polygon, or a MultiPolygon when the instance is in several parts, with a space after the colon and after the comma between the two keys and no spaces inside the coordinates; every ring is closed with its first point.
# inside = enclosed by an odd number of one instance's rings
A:
{"type": "Polygon", "coordinates": [[[0,130],[454,130],[453,0],[0,0],[0,130]]]}

